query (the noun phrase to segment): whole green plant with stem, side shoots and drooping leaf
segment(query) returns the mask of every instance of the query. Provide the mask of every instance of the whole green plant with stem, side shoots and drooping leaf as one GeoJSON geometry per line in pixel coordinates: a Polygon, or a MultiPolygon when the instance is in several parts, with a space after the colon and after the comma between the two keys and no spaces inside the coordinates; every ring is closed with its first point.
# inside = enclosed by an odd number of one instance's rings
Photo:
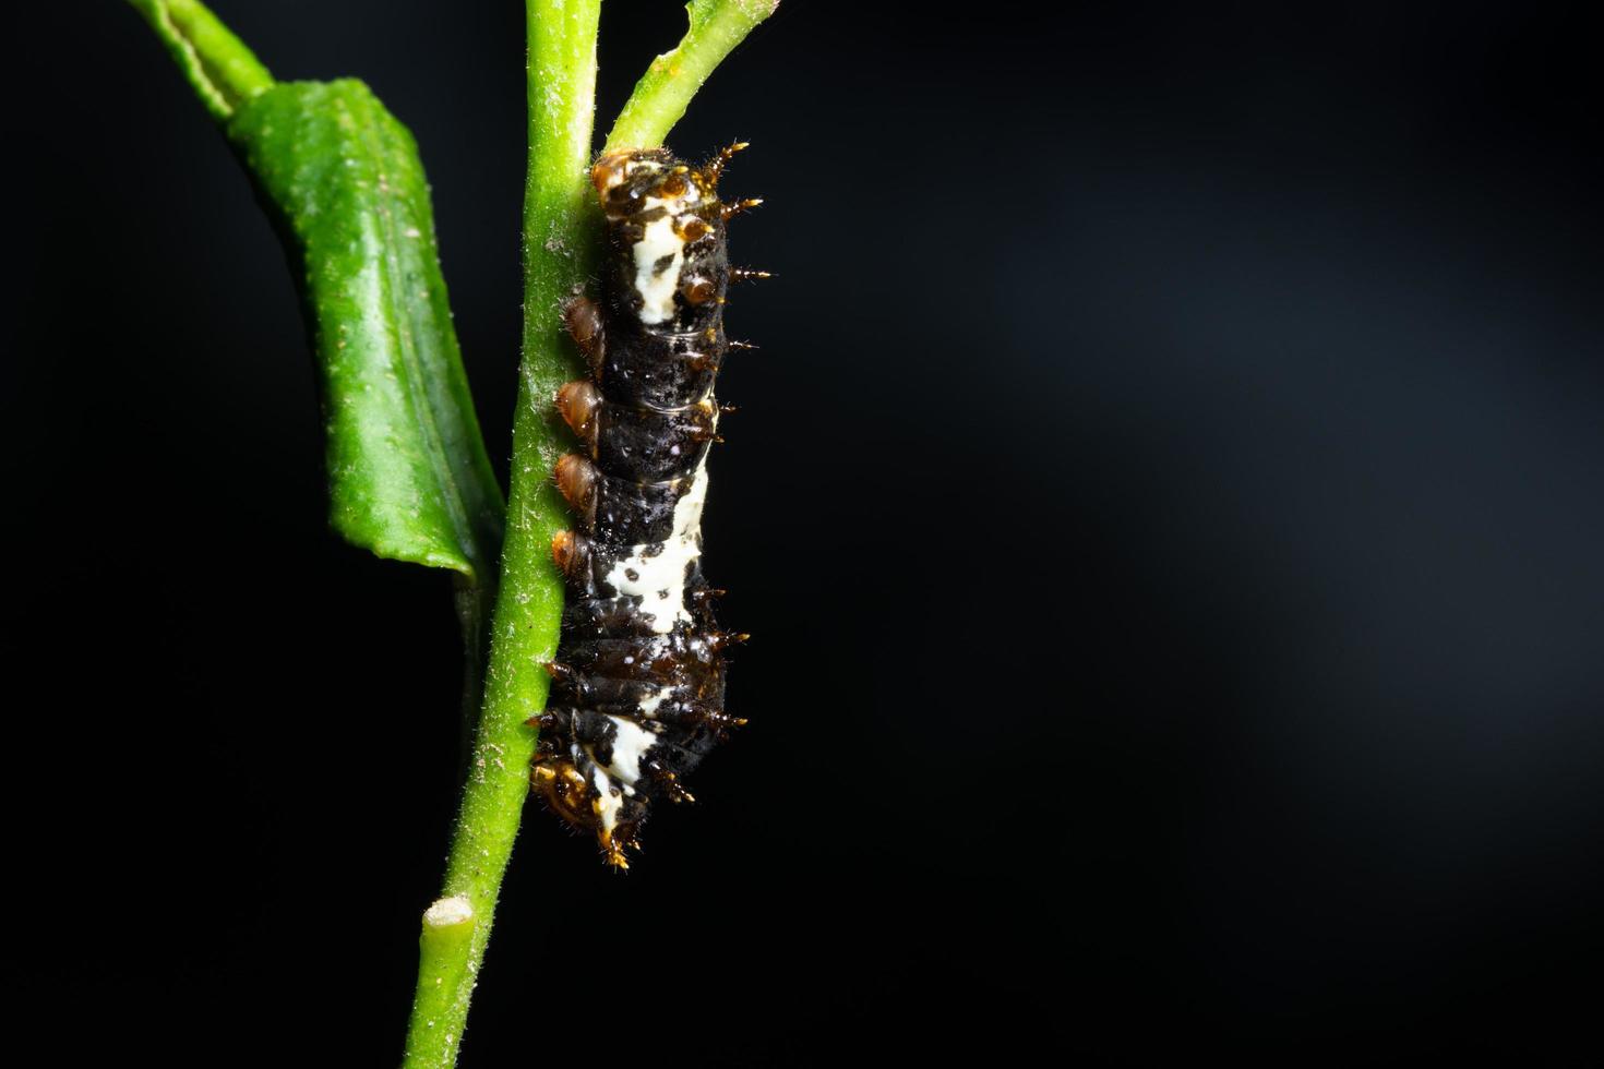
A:
{"type": "MultiPolygon", "coordinates": [[[[557,649],[569,524],[549,473],[555,388],[579,377],[560,309],[589,272],[600,0],[526,0],[525,325],[512,484],[502,498],[468,394],[433,213],[407,130],[356,80],[274,82],[196,0],[130,0],[250,171],[284,237],[322,377],[330,522],[379,556],[454,572],[478,712],[439,899],[425,912],[407,1066],[451,1066],[528,797],[557,649]],[[497,567],[499,561],[499,567],[497,567]]],[[[606,147],[662,143],[706,77],[778,0],[693,0],[606,147]]]]}

